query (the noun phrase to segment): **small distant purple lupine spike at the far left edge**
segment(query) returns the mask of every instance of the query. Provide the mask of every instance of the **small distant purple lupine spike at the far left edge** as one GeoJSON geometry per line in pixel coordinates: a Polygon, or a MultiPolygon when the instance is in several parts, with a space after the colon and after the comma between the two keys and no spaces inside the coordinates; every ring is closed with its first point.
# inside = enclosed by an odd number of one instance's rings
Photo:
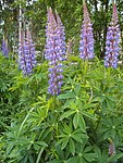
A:
{"type": "Polygon", "coordinates": [[[4,38],[3,38],[3,40],[2,40],[1,51],[2,51],[2,53],[3,53],[3,55],[4,55],[5,58],[9,57],[8,42],[7,42],[7,40],[5,40],[4,38]]]}

